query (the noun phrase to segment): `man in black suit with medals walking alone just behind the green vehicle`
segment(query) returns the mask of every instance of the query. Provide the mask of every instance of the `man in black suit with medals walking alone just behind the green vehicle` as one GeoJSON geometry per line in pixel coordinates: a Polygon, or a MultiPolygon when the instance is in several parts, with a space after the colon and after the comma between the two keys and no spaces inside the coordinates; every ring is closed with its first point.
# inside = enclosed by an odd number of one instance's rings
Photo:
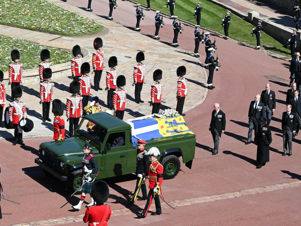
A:
{"type": "Polygon", "coordinates": [[[226,116],[225,113],[219,109],[219,103],[215,103],[213,106],[213,111],[211,114],[211,122],[209,126],[209,131],[212,134],[214,148],[212,149],[212,154],[216,155],[219,153],[219,137],[225,132],[226,128],[226,116]]]}

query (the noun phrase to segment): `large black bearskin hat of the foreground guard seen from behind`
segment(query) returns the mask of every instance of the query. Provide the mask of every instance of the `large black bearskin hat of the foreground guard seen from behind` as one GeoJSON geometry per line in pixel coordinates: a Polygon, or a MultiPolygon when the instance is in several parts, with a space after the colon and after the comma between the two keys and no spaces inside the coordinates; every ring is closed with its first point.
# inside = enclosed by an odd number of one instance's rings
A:
{"type": "Polygon", "coordinates": [[[109,198],[108,184],[103,180],[96,180],[92,185],[92,197],[97,205],[102,205],[109,198]]]}

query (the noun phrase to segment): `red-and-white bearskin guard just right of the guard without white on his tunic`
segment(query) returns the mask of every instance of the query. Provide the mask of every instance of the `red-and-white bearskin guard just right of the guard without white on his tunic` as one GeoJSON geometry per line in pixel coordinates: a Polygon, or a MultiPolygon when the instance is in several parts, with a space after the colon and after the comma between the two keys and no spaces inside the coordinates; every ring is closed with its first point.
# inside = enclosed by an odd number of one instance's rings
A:
{"type": "Polygon", "coordinates": [[[69,137],[73,137],[74,131],[77,129],[79,119],[82,117],[82,97],[78,95],[80,86],[80,83],[77,81],[71,82],[70,93],[72,95],[66,98],[66,114],[69,119],[69,137]]]}

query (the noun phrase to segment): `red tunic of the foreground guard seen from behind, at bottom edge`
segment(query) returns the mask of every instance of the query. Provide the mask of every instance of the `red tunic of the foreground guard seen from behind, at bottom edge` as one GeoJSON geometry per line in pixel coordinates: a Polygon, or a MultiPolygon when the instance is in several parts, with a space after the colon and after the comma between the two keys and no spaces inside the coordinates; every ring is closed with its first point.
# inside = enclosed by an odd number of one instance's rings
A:
{"type": "Polygon", "coordinates": [[[107,226],[110,217],[111,207],[105,203],[88,207],[82,220],[85,223],[89,222],[88,226],[107,226]]]}

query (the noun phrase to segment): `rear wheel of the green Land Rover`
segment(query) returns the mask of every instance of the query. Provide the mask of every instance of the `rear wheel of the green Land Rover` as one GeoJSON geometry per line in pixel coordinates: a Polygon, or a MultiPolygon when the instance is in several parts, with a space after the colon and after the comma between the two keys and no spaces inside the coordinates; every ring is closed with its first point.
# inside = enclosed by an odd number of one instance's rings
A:
{"type": "Polygon", "coordinates": [[[172,179],[177,176],[181,167],[180,160],[175,155],[168,155],[164,157],[161,164],[163,166],[164,180],[172,179]]]}

